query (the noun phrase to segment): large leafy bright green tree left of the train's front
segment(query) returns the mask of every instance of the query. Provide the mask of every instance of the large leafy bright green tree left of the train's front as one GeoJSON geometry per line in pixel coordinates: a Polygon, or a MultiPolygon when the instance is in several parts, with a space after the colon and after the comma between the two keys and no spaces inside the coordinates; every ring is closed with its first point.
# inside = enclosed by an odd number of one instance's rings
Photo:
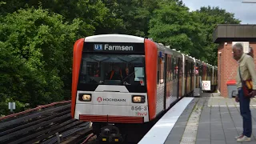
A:
{"type": "Polygon", "coordinates": [[[0,21],[0,103],[12,100],[34,107],[60,101],[65,86],[70,99],[66,81],[82,21],[63,22],[61,15],[42,8],[18,10],[0,21]]]}

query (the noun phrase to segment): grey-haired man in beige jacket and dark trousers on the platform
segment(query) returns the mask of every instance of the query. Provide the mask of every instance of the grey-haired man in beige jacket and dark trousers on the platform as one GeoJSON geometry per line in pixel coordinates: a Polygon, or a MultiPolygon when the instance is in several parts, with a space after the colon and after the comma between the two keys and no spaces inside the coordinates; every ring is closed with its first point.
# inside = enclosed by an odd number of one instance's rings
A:
{"type": "Polygon", "coordinates": [[[241,135],[235,137],[238,142],[250,141],[252,133],[252,122],[250,113],[250,97],[256,95],[256,72],[254,70],[254,59],[250,55],[243,52],[243,46],[241,43],[236,43],[233,46],[233,57],[238,61],[238,73],[237,73],[237,86],[238,96],[236,96],[236,102],[240,103],[240,113],[242,115],[242,127],[243,132],[241,135]],[[249,94],[250,97],[246,97],[242,90],[242,80],[252,79],[253,91],[249,94]]]}

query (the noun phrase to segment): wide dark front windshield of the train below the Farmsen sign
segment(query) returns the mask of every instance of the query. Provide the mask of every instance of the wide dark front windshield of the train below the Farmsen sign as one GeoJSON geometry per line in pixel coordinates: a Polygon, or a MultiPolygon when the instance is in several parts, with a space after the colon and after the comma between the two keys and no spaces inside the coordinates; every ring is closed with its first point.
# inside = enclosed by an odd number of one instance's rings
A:
{"type": "Polygon", "coordinates": [[[142,89],[146,86],[144,67],[145,55],[83,54],[79,83],[142,89]]]}

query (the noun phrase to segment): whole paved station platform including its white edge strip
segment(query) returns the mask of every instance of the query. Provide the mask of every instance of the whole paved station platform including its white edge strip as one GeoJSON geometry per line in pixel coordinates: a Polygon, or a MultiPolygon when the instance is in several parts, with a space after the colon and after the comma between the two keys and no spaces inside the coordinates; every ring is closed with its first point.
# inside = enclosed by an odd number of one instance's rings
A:
{"type": "Polygon", "coordinates": [[[234,98],[218,93],[182,98],[148,131],[139,144],[256,144],[256,98],[251,98],[253,131],[250,142],[237,142],[242,116],[234,98]]]}

